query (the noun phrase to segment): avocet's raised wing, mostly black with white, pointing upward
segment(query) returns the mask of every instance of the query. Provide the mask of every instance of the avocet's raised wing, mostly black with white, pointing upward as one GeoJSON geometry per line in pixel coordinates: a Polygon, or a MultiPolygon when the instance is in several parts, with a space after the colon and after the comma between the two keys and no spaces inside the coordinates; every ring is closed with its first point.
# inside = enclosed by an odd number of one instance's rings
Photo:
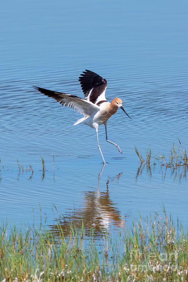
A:
{"type": "Polygon", "coordinates": [[[79,81],[84,93],[85,99],[97,104],[100,101],[106,101],[105,91],[107,87],[107,81],[97,73],[86,70],[79,77],[79,81]]]}

